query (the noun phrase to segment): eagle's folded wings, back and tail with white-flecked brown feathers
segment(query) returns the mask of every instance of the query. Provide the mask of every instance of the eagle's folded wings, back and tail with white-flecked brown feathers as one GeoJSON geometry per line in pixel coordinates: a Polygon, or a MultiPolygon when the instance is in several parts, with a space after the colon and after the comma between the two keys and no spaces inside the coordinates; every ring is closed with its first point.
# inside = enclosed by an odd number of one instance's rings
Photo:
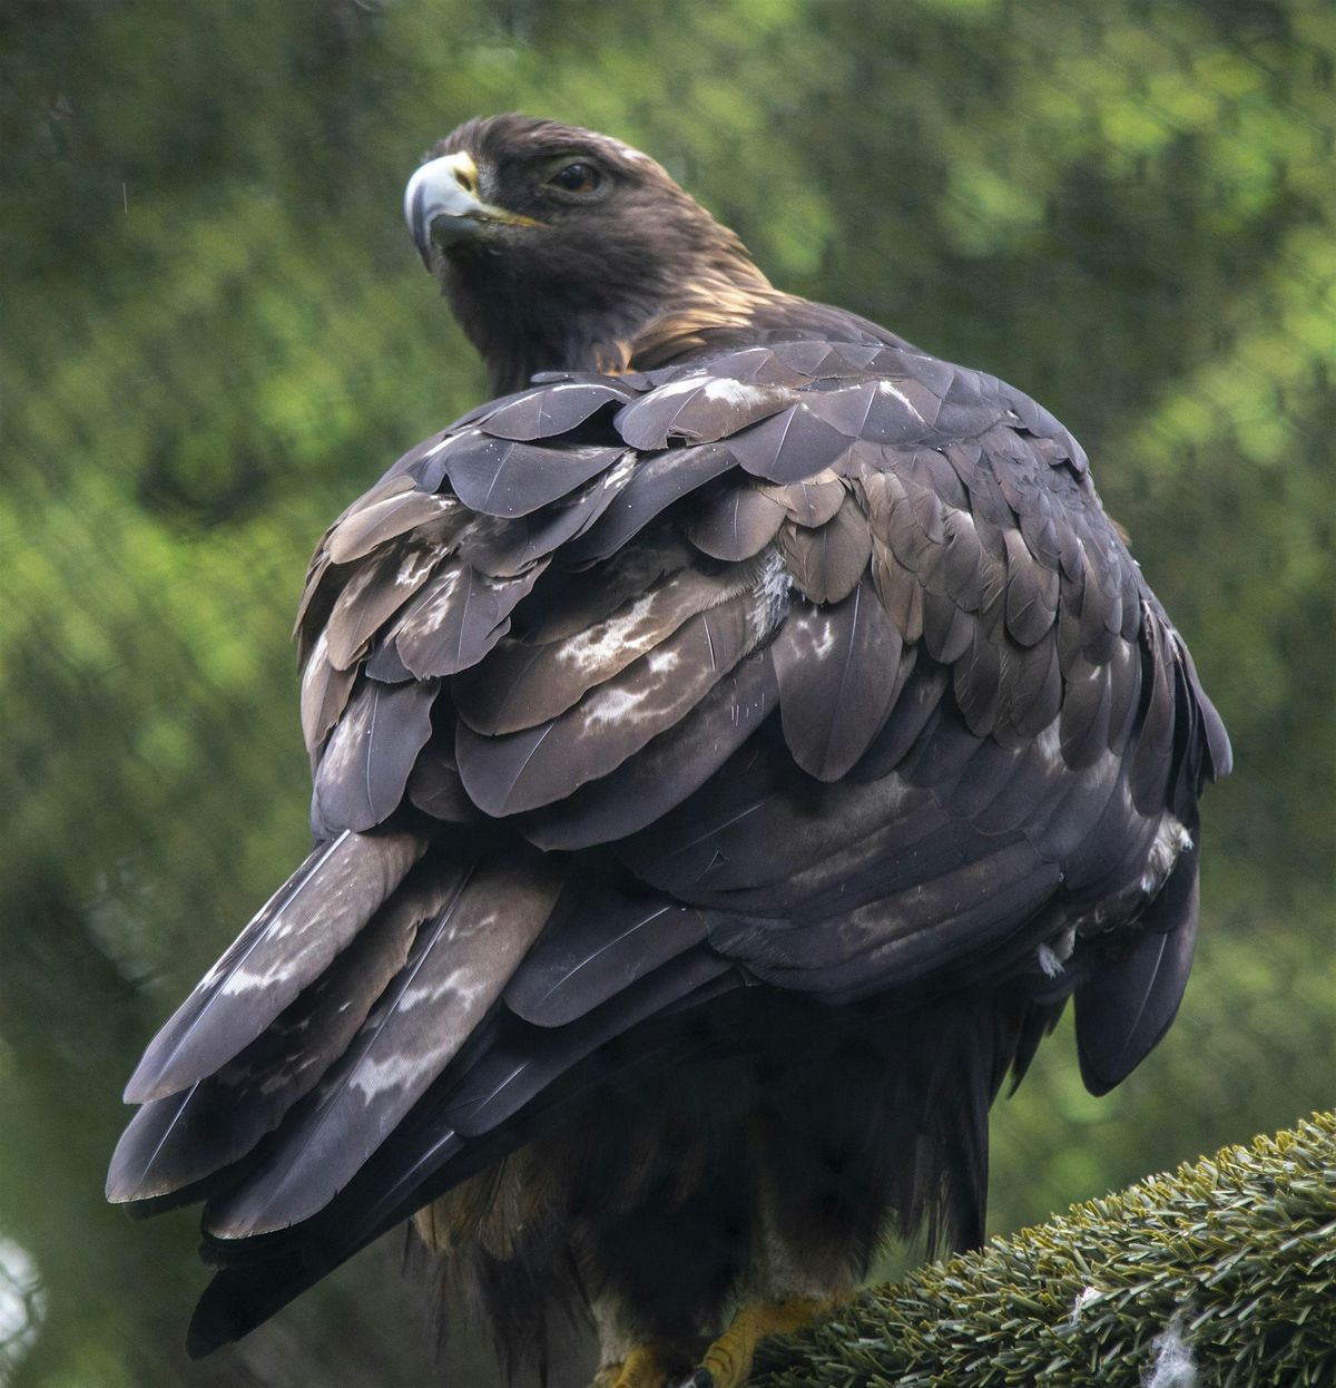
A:
{"type": "Polygon", "coordinates": [[[298,636],[316,848],[150,1047],[110,1180],[258,1264],[196,1348],[746,984],[1032,973],[1095,1090],[1178,1005],[1228,740],[993,378],[794,340],[540,379],[339,518],[298,636]]]}

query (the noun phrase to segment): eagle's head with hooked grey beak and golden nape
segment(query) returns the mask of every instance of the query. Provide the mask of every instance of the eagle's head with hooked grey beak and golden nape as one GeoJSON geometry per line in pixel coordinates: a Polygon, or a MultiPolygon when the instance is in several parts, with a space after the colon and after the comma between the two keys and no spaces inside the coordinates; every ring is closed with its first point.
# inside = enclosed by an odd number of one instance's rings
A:
{"type": "Polygon", "coordinates": [[[737,326],[778,297],[660,164],[573,125],[466,121],[409,179],[404,215],[498,391],[624,369],[670,311],[737,326]]]}

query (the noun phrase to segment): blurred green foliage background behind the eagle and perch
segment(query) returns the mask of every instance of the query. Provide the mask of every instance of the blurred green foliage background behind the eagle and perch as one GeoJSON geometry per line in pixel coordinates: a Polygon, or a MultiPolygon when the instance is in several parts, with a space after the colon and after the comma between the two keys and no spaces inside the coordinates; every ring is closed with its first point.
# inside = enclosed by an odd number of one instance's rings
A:
{"type": "Polygon", "coordinates": [[[1225,715],[1183,1013],[1099,1103],[1045,1049],[995,1227],[1328,1103],[1333,74],[1326,0],[8,0],[0,1306],[17,1245],[44,1320],[0,1381],[426,1381],[375,1255],[187,1367],[190,1220],[100,1191],[140,1047],[305,845],[309,548],[481,391],[398,211],[476,112],[648,149],[784,287],[1039,396],[1225,715]]]}

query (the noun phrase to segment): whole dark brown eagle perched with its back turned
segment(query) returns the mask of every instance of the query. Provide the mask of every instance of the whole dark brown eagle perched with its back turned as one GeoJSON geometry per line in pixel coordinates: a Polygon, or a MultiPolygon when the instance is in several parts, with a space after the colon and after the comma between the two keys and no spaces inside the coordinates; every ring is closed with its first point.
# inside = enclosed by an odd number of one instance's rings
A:
{"type": "Polygon", "coordinates": [[[196,1352],[418,1213],[512,1357],[576,1306],[601,1384],[663,1384],[884,1230],[977,1242],[1068,998],[1095,1092],[1151,1049],[1229,745],[1034,401],[773,289],[603,136],[436,154],[409,222],[502,398],[316,550],[316,847],[108,1192],[205,1201],[196,1352]]]}

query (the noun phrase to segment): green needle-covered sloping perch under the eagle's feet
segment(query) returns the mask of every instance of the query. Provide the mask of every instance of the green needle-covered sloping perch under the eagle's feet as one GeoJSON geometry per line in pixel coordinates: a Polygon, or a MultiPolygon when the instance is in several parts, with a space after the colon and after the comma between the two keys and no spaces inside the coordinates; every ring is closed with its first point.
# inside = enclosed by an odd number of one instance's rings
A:
{"type": "Polygon", "coordinates": [[[762,1356],[764,1388],[1336,1382],[1336,1113],[918,1269],[762,1356]]]}

